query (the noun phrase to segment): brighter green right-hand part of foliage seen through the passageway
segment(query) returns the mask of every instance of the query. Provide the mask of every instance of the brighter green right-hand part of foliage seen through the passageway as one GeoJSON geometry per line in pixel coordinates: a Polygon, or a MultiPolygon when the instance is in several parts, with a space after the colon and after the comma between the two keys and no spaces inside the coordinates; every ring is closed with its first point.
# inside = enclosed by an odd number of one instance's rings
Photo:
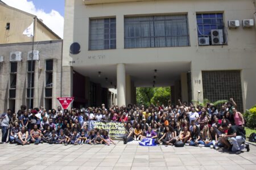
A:
{"type": "Polygon", "coordinates": [[[168,100],[171,98],[171,88],[170,87],[156,87],[154,88],[154,96],[151,98],[151,103],[168,105],[168,100]]]}

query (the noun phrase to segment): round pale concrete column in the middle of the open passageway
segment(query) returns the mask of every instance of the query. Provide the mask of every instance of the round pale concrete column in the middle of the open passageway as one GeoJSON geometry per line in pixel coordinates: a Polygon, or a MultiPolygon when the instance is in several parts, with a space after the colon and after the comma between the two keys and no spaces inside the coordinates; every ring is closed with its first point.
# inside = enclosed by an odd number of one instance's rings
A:
{"type": "Polygon", "coordinates": [[[125,64],[117,64],[117,105],[126,105],[125,64]]]}

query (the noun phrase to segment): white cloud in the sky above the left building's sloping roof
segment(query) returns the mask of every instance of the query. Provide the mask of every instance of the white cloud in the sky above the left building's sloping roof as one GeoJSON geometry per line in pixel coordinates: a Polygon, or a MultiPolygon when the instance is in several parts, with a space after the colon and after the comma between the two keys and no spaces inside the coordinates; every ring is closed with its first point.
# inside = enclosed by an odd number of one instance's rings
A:
{"type": "Polygon", "coordinates": [[[42,9],[37,9],[32,1],[28,0],[2,0],[7,5],[18,8],[19,10],[28,12],[30,14],[38,16],[43,20],[43,23],[47,25],[53,32],[63,38],[64,18],[58,11],[51,10],[46,13],[42,9]]]}

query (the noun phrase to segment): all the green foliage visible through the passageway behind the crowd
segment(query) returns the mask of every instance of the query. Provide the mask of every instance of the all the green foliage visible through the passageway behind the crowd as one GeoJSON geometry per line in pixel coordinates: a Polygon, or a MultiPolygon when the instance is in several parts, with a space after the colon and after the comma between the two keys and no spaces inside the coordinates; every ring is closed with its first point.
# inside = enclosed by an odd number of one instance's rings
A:
{"type": "Polygon", "coordinates": [[[136,90],[137,104],[148,106],[151,103],[156,104],[159,100],[159,104],[168,104],[168,100],[171,99],[170,87],[138,87],[136,90]]]}

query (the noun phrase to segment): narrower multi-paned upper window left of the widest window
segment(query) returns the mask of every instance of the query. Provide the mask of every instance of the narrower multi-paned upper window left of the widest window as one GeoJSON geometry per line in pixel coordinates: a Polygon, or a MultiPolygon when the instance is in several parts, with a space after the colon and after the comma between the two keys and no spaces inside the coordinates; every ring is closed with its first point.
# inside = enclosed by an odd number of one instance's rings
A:
{"type": "Polygon", "coordinates": [[[90,19],[89,50],[115,49],[115,18],[90,19]]]}

